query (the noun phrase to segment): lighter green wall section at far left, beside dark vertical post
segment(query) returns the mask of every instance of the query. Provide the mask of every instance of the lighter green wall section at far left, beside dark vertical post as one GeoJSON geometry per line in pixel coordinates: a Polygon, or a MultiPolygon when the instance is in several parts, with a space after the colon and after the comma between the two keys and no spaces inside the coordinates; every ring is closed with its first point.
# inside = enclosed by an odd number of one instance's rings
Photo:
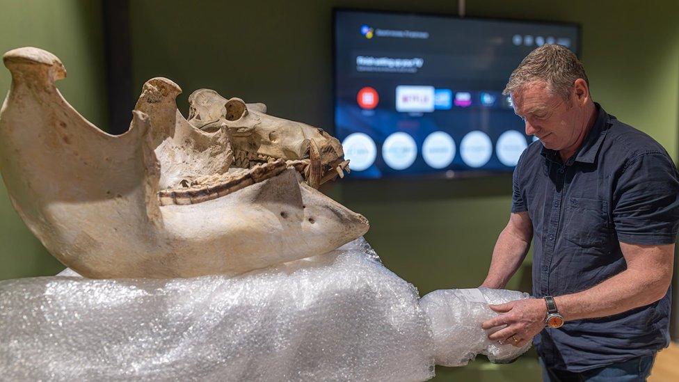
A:
{"type": "MultiPolygon", "coordinates": [[[[101,1],[0,0],[0,53],[33,46],[56,54],[68,72],[58,83],[61,93],[83,116],[105,127],[101,17],[101,1]]],[[[1,65],[3,99],[11,81],[1,65]]],[[[63,268],[26,228],[0,184],[0,280],[53,275],[63,268]]]]}

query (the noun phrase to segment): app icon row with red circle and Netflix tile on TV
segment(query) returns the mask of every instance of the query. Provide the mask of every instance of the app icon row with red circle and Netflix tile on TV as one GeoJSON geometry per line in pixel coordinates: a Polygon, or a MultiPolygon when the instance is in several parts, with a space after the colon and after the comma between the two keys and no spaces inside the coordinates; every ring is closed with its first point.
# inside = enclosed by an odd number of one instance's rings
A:
{"type": "MultiPolygon", "coordinates": [[[[370,86],[358,90],[356,102],[361,109],[372,110],[377,107],[380,96],[370,86]]],[[[402,113],[432,113],[436,110],[468,108],[470,106],[500,107],[512,109],[511,97],[497,91],[453,91],[433,86],[399,85],[396,87],[396,111],[402,113]]]]}

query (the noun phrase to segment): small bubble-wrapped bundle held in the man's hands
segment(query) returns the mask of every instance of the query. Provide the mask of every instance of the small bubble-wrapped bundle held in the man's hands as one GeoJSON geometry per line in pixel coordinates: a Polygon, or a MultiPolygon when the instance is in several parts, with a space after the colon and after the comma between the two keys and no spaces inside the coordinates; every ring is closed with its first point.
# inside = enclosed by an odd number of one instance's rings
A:
{"type": "Polygon", "coordinates": [[[505,289],[439,289],[420,300],[420,307],[431,322],[436,364],[463,366],[477,354],[485,354],[490,362],[507,363],[525,353],[524,347],[501,345],[488,340],[481,323],[497,316],[488,304],[527,299],[526,293],[505,289]]]}

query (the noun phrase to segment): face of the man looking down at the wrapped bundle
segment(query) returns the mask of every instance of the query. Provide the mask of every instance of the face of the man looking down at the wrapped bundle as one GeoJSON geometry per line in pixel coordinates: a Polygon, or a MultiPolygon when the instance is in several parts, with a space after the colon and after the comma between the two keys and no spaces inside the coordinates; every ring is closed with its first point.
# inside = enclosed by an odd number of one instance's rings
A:
{"type": "Polygon", "coordinates": [[[577,143],[582,124],[573,97],[564,100],[544,81],[526,83],[511,94],[514,113],[524,120],[526,134],[540,138],[545,148],[564,150],[577,143]]]}

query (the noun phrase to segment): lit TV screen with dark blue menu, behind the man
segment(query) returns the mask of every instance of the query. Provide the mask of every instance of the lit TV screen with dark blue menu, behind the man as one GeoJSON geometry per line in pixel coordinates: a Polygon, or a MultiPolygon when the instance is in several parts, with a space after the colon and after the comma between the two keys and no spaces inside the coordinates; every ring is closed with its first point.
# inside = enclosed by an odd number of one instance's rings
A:
{"type": "Polygon", "coordinates": [[[350,177],[513,170],[534,141],[502,96],[533,49],[578,26],[335,10],[335,136],[350,177]]]}

